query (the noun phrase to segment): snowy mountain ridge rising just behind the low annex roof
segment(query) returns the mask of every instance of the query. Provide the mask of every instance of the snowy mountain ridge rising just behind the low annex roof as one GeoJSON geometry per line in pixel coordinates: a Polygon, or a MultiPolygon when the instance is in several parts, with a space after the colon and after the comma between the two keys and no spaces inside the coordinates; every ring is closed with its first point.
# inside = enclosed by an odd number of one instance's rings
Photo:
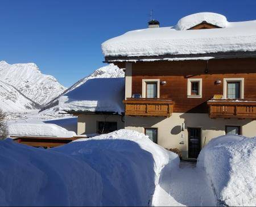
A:
{"type": "Polygon", "coordinates": [[[41,111],[51,108],[53,111],[59,111],[59,98],[64,94],[67,94],[69,91],[74,90],[75,88],[81,86],[83,83],[93,78],[122,78],[125,77],[125,72],[122,69],[119,69],[118,66],[114,64],[109,64],[104,67],[100,67],[95,70],[92,74],[86,76],[85,78],[80,79],[74,85],[65,90],[62,94],[57,96],[55,99],[51,100],[48,104],[44,105],[41,111]]]}

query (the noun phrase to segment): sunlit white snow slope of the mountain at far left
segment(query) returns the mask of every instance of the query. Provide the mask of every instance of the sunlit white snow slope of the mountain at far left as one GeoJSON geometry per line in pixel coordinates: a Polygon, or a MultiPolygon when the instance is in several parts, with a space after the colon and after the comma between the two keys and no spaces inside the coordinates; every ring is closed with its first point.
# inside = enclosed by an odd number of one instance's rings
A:
{"type": "MultiPolygon", "coordinates": [[[[38,66],[33,63],[11,65],[1,61],[0,81],[13,86],[17,92],[23,94],[23,97],[27,97],[40,105],[48,103],[66,89],[51,75],[42,74],[38,66]]],[[[3,90],[1,97],[9,96],[9,93],[8,89],[7,92],[3,90]]],[[[16,98],[12,104],[13,108],[27,108],[26,102],[29,102],[28,100],[19,100],[18,96],[16,98]]]]}

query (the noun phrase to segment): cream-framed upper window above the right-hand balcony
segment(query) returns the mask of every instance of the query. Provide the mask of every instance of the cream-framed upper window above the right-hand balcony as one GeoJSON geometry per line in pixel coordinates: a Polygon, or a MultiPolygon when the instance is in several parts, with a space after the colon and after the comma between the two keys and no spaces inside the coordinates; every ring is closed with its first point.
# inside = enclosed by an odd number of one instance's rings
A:
{"type": "Polygon", "coordinates": [[[224,78],[223,98],[243,99],[245,90],[244,78],[224,78]]]}

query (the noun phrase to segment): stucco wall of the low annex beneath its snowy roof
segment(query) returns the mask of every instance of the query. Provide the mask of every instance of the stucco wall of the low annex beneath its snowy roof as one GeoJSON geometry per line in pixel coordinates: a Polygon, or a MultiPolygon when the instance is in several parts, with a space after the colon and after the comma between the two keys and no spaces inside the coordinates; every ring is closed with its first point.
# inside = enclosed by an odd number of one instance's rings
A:
{"type": "Polygon", "coordinates": [[[76,115],[77,118],[77,134],[91,134],[97,132],[98,121],[115,121],[117,122],[117,129],[123,129],[125,123],[122,122],[120,115],[76,115]]]}

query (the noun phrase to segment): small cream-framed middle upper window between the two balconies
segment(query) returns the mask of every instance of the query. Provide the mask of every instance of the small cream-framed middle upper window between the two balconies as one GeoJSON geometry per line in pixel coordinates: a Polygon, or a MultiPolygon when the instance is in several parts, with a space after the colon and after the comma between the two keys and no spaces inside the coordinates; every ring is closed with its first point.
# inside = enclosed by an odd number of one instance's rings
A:
{"type": "Polygon", "coordinates": [[[188,98],[202,98],[201,78],[188,78],[188,98]]]}

